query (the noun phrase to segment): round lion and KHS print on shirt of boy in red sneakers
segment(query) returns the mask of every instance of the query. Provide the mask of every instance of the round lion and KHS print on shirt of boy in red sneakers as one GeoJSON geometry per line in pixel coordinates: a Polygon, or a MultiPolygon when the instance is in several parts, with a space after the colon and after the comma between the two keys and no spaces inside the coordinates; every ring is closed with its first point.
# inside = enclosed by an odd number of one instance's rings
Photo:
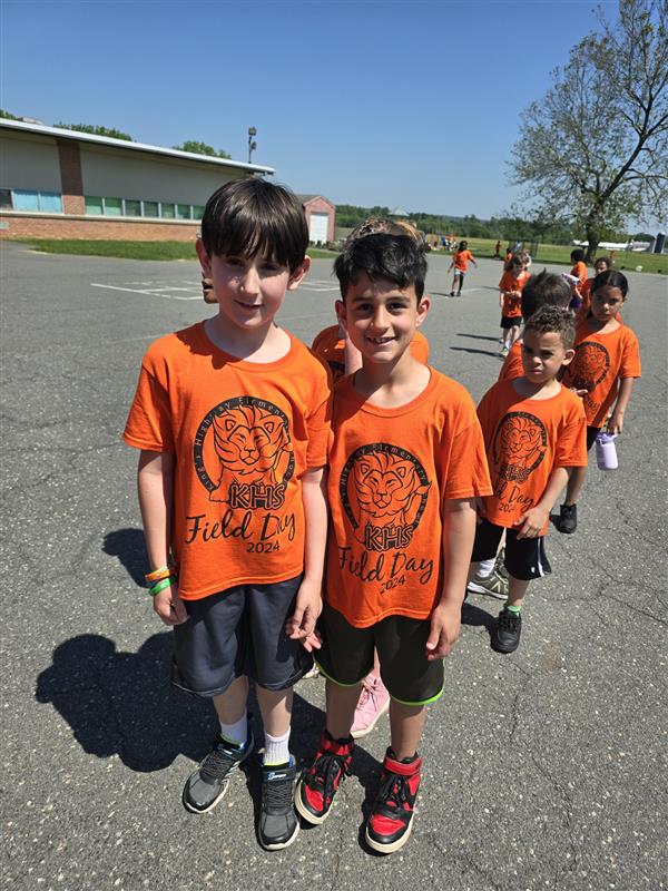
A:
{"type": "Polygon", "coordinates": [[[340,481],[342,503],[357,541],[374,551],[407,547],[430,487],[424,469],[405,449],[385,442],[357,449],[340,481]]]}

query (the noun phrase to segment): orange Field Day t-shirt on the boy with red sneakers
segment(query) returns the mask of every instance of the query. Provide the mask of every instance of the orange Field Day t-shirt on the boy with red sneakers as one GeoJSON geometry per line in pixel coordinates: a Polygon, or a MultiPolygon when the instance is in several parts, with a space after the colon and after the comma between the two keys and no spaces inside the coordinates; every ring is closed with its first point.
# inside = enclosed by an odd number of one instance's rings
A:
{"type": "Polygon", "coordinates": [[[475,408],[430,369],[426,388],[394,409],[334,390],[330,450],[327,603],[357,627],[423,619],[442,594],[443,501],[491,492],[475,408]]]}

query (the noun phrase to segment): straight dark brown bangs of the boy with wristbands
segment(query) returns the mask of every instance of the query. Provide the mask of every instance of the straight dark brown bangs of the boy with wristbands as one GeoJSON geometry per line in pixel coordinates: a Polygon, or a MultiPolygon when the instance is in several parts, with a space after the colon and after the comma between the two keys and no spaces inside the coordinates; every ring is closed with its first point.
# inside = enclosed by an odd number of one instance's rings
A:
{"type": "Polygon", "coordinates": [[[246,177],[214,192],[202,217],[209,256],[266,256],[293,273],[308,247],[302,203],[288,189],[246,177]]]}

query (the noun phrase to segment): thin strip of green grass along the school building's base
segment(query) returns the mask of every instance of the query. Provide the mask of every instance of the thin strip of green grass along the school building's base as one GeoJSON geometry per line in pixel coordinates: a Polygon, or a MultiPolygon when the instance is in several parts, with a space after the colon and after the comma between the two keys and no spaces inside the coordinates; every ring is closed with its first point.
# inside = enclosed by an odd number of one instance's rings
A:
{"type": "MultiPolygon", "coordinates": [[[[13,238],[45,254],[78,254],[79,256],[122,257],[125,260],[197,260],[191,242],[102,242],[75,238],[13,238]]],[[[335,257],[334,251],[310,248],[313,260],[335,257]]]]}

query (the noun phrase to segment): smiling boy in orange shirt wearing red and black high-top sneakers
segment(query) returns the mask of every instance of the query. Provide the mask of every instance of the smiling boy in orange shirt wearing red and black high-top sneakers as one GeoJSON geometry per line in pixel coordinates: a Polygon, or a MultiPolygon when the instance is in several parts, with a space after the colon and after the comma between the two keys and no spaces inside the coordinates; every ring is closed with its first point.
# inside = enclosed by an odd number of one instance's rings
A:
{"type": "Polygon", "coordinates": [[[424,253],[410,238],[370,235],[334,268],[340,317],[363,364],[335,389],[316,657],[327,678],[326,728],[295,804],[307,823],[330,814],[376,647],[392,697],[391,746],[365,839],[390,853],[411,833],[425,706],[441,695],[442,659],[460,631],[473,499],[491,488],[471,398],[409,349],[430,305],[424,253]]]}

